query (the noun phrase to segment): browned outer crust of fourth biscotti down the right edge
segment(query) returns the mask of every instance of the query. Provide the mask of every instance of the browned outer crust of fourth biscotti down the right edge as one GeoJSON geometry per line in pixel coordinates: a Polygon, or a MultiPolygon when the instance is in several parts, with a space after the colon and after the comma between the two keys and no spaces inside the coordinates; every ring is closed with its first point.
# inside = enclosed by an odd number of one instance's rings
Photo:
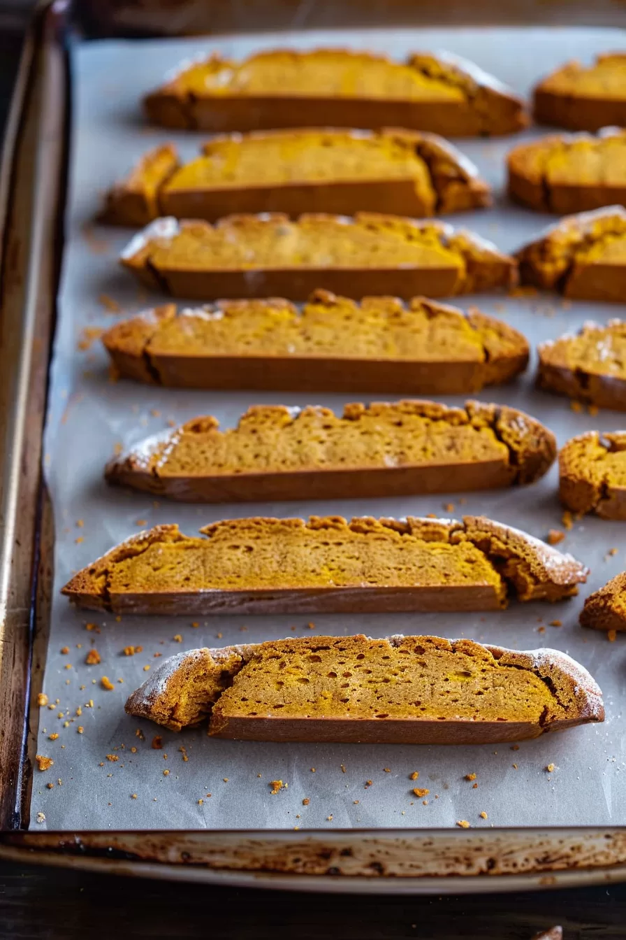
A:
{"type": "Polygon", "coordinates": [[[538,346],[539,368],[537,386],[547,392],[565,395],[569,399],[585,401],[599,408],[626,411],[626,374],[624,377],[607,375],[584,368],[580,364],[570,365],[565,355],[568,342],[588,332],[610,335],[613,327],[624,321],[609,320],[607,323],[587,321],[576,335],[564,334],[557,339],[547,339],[538,346]]]}

